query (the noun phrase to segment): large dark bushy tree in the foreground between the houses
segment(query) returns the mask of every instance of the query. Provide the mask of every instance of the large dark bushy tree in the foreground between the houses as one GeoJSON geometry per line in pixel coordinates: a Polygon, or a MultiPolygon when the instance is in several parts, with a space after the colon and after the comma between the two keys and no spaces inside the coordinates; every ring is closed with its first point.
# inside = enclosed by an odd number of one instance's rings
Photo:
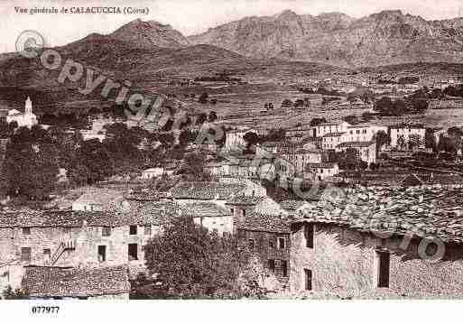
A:
{"type": "Polygon", "coordinates": [[[145,245],[146,267],[155,284],[148,298],[240,298],[238,277],[249,256],[236,237],[209,233],[192,218],[173,218],[145,245]]]}

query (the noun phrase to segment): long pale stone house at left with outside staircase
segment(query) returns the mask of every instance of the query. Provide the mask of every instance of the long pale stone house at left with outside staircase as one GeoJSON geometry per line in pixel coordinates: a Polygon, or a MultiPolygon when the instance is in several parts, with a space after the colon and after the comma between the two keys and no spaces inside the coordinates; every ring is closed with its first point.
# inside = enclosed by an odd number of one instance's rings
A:
{"type": "Polygon", "coordinates": [[[0,214],[2,284],[17,287],[25,265],[144,267],[144,245],[182,208],[132,201],[125,212],[18,210],[0,214]]]}

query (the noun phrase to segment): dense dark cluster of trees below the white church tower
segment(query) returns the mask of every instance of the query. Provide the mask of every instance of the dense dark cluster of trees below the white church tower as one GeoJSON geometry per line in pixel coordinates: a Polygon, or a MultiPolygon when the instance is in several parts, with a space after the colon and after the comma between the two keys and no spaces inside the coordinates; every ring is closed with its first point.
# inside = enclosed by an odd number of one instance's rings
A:
{"type": "MultiPolygon", "coordinates": [[[[209,114],[209,119],[214,116],[209,114]]],[[[2,167],[2,189],[11,196],[33,200],[47,199],[59,188],[60,169],[67,171],[71,186],[92,184],[114,175],[134,176],[167,160],[183,159],[185,146],[198,136],[198,131],[189,129],[182,130],[178,138],[170,133],[151,134],[122,123],[106,125],[103,142],[84,141],[79,131],[59,126],[45,130],[34,125],[32,129],[20,127],[14,131],[12,125],[0,123],[0,133],[10,138],[2,167]]],[[[184,173],[199,174],[196,169],[204,157],[186,161],[190,168],[184,173]]]]}

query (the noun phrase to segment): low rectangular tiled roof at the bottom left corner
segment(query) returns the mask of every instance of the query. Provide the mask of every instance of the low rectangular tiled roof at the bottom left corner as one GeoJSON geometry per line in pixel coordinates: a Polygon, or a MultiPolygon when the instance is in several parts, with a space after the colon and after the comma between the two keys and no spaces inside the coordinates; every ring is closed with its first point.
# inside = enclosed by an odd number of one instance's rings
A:
{"type": "Polygon", "coordinates": [[[126,266],[76,269],[27,266],[23,288],[31,297],[88,297],[130,292],[126,266]]]}

